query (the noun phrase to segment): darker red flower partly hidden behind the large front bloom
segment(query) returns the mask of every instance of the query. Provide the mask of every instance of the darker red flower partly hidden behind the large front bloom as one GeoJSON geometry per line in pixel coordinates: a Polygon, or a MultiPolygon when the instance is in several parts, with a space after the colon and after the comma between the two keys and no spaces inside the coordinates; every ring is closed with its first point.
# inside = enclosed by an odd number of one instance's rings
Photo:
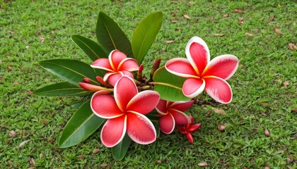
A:
{"type": "Polygon", "coordinates": [[[187,125],[191,123],[189,116],[183,111],[187,111],[194,101],[165,101],[160,100],[156,106],[156,111],[160,113],[159,125],[162,132],[170,134],[175,125],[187,125]]]}

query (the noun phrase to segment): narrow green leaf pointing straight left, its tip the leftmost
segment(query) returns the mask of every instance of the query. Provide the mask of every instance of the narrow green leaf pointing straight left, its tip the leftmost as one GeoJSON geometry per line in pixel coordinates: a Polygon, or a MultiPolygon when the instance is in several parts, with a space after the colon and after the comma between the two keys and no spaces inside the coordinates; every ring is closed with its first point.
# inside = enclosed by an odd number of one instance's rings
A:
{"type": "Polygon", "coordinates": [[[86,96],[91,93],[69,82],[50,84],[33,92],[39,96],[86,96]]]}

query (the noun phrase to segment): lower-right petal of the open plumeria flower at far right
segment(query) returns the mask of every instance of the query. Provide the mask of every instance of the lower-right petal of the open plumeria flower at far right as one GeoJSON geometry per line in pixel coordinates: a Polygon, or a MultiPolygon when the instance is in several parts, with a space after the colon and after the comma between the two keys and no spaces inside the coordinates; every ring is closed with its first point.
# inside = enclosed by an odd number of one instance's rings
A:
{"type": "Polygon", "coordinates": [[[205,92],[222,104],[232,101],[232,90],[228,82],[220,77],[208,76],[205,80],[205,92]]]}

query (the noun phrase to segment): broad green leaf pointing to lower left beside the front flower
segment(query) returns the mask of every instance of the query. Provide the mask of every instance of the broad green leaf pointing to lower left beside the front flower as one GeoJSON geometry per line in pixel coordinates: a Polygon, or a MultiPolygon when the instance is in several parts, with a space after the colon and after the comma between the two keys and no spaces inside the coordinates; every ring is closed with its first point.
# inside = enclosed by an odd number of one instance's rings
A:
{"type": "Polygon", "coordinates": [[[105,119],[99,118],[92,112],[90,104],[91,101],[86,101],[64,127],[59,139],[61,148],[83,142],[105,122],[105,119]]]}

